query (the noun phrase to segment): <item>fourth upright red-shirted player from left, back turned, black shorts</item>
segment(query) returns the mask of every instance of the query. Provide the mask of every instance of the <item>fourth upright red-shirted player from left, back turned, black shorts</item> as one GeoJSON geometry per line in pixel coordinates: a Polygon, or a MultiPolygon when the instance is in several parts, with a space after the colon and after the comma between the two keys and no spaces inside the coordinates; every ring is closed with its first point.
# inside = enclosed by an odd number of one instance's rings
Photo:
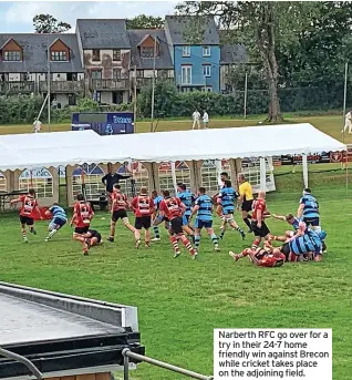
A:
{"type": "Polygon", "coordinates": [[[135,240],[136,248],[139,248],[141,245],[141,230],[144,228],[144,243],[145,247],[151,246],[151,226],[152,226],[152,215],[155,210],[154,202],[152,197],[147,194],[146,187],[141,187],[139,195],[135,196],[131,203],[131,207],[135,215],[135,240]]]}

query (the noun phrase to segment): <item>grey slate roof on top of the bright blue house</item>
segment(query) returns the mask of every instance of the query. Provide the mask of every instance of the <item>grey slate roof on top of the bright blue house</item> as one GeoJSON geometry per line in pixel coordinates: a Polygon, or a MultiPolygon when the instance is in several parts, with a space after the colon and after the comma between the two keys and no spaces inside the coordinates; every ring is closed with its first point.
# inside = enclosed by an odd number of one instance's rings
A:
{"type": "Polygon", "coordinates": [[[187,39],[187,30],[191,31],[191,25],[198,25],[203,28],[204,37],[203,45],[218,45],[219,33],[213,17],[199,17],[199,16],[166,16],[165,29],[170,38],[173,45],[189,44],[187,39]],[[195,22],[196,20],[196,22],[195,22]]]}

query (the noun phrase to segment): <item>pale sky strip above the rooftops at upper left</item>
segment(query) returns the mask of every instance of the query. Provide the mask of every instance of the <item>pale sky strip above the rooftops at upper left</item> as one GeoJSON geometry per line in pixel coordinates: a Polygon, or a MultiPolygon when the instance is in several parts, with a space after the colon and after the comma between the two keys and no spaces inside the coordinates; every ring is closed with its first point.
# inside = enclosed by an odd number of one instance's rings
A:
{"type": "MultiPolygon", "coordinates": [[[[0,33],[33,32],[33,17],[49,13],[73,28],[76,19],[123,19],[173,14],[179,1],[1,1],[0,33]]],[[[72,30],[73,31],[73,30],[72,30]]]]}

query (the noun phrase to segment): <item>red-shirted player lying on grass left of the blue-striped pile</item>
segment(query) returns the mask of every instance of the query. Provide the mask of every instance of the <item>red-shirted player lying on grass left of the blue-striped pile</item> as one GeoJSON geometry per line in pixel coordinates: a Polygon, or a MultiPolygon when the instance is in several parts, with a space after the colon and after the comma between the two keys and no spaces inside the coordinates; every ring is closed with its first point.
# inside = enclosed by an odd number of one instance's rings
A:
{"type": "Polygon", "coordinates": [[[269,242],[265,243],[263,248],[246,248],[239,255],[236,255],[230,250],[229,255],[235,261],[238,261],[242,257],[249,257],[258,267],[280,267],[286,260],[286,257],[280,249],[273,248],[269,242]]]}

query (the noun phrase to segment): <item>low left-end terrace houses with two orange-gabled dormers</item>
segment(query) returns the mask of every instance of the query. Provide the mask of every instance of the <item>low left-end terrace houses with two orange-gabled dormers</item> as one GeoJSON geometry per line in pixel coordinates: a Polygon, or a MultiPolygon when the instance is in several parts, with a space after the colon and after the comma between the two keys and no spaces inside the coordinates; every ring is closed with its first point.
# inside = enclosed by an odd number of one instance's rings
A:
{"type": "Polygon", "coordinates": [[[58,106],[74,105],[84,94],[75,34],[0,34],[0,95],[46,95],[49,73],[58,106]]]}

